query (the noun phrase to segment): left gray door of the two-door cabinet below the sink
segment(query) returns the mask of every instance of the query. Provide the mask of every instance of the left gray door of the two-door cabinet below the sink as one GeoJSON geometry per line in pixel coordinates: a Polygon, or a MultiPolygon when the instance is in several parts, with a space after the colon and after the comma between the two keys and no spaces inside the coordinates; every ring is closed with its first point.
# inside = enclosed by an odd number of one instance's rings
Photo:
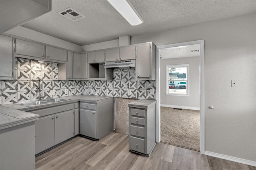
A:
{"type": "Polygon", "coordinates": [[[35,121],[36,154],[54,145],[54,115],[35,121]]]}

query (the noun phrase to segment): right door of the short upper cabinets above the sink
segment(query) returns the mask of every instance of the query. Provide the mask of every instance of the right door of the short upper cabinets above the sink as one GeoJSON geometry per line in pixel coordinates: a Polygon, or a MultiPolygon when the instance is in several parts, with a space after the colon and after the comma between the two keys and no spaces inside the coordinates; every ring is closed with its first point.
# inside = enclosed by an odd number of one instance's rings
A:
{"type": "Polygon", "coordinates": [[[58,61],[66,61],[67,51],[64,49],[58,49],[58,48],[46,46],[46,58],[54,59],[58,61]]]}

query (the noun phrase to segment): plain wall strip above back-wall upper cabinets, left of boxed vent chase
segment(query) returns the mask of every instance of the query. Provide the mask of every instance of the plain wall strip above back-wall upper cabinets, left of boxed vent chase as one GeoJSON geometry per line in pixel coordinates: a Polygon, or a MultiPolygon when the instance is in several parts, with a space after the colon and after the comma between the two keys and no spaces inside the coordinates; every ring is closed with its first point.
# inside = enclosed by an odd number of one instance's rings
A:
{"type": "Polygon", "coordinates": [[[82,52],[93,51],[93,50],[97,50],[97,49],[112,48],[112,47],[119,47],[119,40],[111,40],[111,41],[107,41],[107,42],[83,45],[82,52]]]}

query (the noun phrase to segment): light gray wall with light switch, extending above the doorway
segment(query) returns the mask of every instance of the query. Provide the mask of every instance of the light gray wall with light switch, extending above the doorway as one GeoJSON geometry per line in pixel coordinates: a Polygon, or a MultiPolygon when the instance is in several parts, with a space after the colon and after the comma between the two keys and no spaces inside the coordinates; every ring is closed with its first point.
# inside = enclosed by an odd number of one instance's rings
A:
{"type": "Polygon", "coordinates": [[[256,161],[256,13],[131,37],[131,44],[205,40],[205,150],[256,161]],[[230,81],[238,87],[230,87],[230,81]],[[214,109],[208,109],[210,105],[214,109]]]}

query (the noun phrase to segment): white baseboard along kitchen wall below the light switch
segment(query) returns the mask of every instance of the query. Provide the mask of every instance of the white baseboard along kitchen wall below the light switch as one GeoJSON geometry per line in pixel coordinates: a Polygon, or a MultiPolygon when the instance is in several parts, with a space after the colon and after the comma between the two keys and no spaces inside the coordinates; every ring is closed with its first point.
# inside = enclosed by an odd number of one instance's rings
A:
{"type": "Polygon", "coordinates": [[[216,157],[216,158],[221,158],[221,159],[225,159],[225,160],[231,160],[231,161],[238,162],[238,163],[241,163],[241,164],[246,164],[246,165],[250,165],[250,166],[256,166],[256,162],[252,161],[252,160],[236,158],[236,157],[233,157],[233,156],[217,154],[217,153],[209,152],[209,151],[205,151],[204,154],[208,155],[208,156],[213,156],[213,157],[216,157]]]}

